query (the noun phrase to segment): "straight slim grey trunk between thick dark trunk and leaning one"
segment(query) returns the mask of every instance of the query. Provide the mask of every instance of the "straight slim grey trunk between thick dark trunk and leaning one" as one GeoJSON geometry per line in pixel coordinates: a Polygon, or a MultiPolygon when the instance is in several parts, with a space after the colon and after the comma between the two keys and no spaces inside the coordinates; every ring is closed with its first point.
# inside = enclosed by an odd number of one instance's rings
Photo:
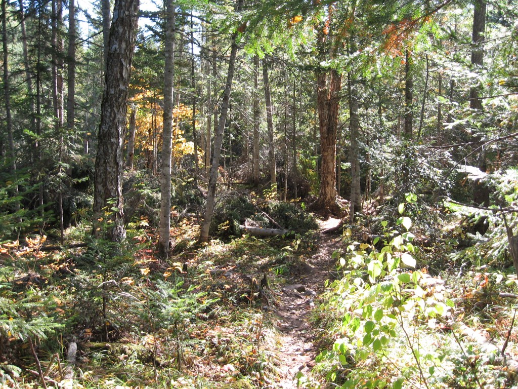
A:
{"type": "Polygon", "coordinates": [[[171,153],[172,153],[172,109],[174,108],[175,82],[175,3],[167,0],[167,22],[165,27],[165,69],[164,69],[164,130],[162,138],[162,174],[160,177],[160,230],[159,255],[167,259],[169,254],[171,228],[171,153]]]}

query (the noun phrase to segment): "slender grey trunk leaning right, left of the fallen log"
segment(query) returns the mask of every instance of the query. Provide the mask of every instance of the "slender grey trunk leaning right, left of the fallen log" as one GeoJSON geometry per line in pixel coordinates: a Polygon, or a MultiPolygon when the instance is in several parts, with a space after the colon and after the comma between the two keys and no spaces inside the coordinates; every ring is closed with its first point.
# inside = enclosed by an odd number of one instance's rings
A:
{"type": "MultiPolygon", "coordinates": [[[[236,11],[239,12],[243,6],[244,0],[239,0],[236,11]]],[[[212,165],[210,166],[209,185],[207,188],[207,204],[205,207],[205,216],[203,219],[202,231],[200,233],[199,241],[208,242],[209,229],[214,213],[214,203],[216,195],[216,184],[218,182],[218,168],[221,157],[221,143],[223,142],[223,133],[225,130],[225,122],[228,113],[228,106],[230,104],[230,95],[232,91],[232,81],[234,80],[234,70],[236,67],[236,57],[238,49],[237,31],[232,34],[232,47],[230,58],[228,61],[228,73],[225,83],[225,91],[223,92],[223,99],[221,101],[221,113],[218,121],[218,130],[214,136],[214,156],[212,157],[212,165]]]]}

